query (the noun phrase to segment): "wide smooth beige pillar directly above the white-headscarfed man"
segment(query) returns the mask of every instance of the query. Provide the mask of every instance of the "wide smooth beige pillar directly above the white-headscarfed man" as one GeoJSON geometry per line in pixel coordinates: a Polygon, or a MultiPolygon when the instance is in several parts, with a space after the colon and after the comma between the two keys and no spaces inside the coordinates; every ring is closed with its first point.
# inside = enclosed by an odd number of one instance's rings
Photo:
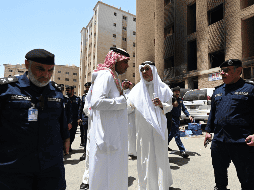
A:
{"type": "Polygon", "coordinates": [[[136,0],[136,69],[135,84],[140,81],[139,65],[144,61],[155,62],[155,2],[154,0],[136,0]]]}

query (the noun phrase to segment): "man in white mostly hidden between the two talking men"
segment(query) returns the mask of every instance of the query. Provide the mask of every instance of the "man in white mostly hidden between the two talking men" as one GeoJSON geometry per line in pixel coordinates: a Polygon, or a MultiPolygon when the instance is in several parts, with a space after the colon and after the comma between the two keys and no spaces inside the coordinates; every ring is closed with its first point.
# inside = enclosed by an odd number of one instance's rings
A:
{"type": "MultiPolygon", "coordinates": [[[[125,79],[122,82],[123,92],[128,99],[128,95],[131,91],[132,83],[125,79]]],[[[128,114],[128,155],[129,160],[137,159],[137,150],[136,150],[136,125],[135,125],[135,112],[128,114]]]]}

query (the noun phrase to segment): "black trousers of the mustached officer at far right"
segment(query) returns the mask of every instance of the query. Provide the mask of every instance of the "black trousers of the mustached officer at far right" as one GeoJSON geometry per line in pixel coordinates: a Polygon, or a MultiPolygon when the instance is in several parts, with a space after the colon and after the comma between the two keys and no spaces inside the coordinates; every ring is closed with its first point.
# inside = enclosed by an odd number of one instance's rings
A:
{"type": "Polygon", "coordinates": [[[246,143],[224,143],[213,141],[211,145],[215,183],[219,189],[228,185],[227,169],[232,161],[235,165],[242,190],[254,187],[254,147],[246,143]]]}

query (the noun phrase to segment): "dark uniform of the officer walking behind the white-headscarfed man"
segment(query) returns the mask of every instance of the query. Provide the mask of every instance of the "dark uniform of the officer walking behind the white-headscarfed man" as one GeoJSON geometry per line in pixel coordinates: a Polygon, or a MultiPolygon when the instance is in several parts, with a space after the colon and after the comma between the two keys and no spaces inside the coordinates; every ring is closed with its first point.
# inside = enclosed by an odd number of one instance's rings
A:
{"type": "Polygon", "coordinates": [[[168,135],[168,143],[172,140],[173,137],[175,137],[176,144],[180,150],[180,152],[184,152],[185,148],[183,146],[183,143],[180,139],[180,131],[179,131],[179,126],[180,126],[180,116],[181,116],[181,110],[184,112],[184,114],[189,117],[190,114],[186,107],[183,104],[183,101],[181,98],[177,98],[177,107],[173,107],[171,114],[172,114],[172,126],[170,133],[168,135]]]}

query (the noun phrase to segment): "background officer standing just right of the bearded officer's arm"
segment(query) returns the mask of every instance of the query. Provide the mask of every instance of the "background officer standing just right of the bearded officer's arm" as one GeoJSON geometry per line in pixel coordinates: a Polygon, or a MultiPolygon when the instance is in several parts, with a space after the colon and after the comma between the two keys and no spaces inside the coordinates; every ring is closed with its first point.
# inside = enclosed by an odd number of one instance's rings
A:
{"type": "MultiPolygon", "coordinates": [[[[74,87],[67,86],[66,92],[70,100],[71,109],[72,109],[72,128],[70,129],[70,141],[71,144],[75,139],[75,134],[78,128],[78,113],[79,113],[79,105],[80,105],[80,98],[74,95],[74,87]]],[[[70,152],[72,148],[70,146],[70,152]]]]}

